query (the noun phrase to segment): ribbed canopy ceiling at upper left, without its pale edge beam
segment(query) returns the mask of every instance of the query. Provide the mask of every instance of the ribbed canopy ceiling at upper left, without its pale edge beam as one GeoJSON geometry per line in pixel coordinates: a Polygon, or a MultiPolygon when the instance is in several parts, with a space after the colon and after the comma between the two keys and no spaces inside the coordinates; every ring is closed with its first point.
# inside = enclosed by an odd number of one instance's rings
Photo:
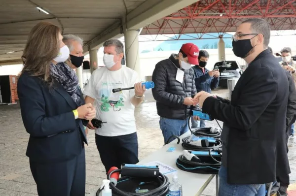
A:
{"type": "Polygon", "coordinates": [[[76,34],[87,43],[112,24],[119,24],[122,16],[145,1],[0,0],[0,62],[20,60],[29,32],[41,20],[59,26],[63,34],[76,34]]]}

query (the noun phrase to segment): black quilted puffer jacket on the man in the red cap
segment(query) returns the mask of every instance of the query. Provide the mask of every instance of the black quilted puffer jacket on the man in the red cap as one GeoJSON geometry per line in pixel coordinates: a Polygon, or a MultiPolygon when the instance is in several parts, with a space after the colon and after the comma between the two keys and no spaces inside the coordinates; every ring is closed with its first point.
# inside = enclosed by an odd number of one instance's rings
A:
{"type": "Polygon", "coordinates": [[[155,65],[152,74],[155,87],[152,89],[152,95],[156,100],[157,114],[160,117],[183,120],[190,115],[190,107],[183,104],[184,98],[193,98],[196,94],[194,71],[192,68],[182,69],[185,72],[184,80],[182,84],[178,82],[176,75],[180,65],[175,57],[173,54],[169,59],[155,65]]]}

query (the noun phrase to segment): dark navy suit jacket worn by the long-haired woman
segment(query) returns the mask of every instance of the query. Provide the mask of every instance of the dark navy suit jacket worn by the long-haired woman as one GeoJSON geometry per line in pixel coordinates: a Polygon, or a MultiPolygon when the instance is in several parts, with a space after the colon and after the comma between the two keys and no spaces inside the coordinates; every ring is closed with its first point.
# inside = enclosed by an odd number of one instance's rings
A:
{"type": "MultiPolygon", "coordinates": [[[[17,90],[23,123],[30,134],[26,153],[30,161],[59,162],[79,155],[87,140],[82,120],[74,119],[72,111],[77,106],[70,94],[59,83],[49,89],[26,72],[19,77],[17,90]]],[[[81,91],[80,95],[84,104],[81,91]]]]}

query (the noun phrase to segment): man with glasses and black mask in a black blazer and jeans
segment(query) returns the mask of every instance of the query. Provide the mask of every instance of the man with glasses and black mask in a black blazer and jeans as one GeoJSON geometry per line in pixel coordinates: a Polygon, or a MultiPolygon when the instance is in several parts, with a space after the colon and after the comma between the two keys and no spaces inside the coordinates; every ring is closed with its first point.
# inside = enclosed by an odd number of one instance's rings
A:
{"type": "Polygon", "coordinates": [[[267,49],[270,27],[263,19],[244,21],[233,35],[233,52],[248,68],[231,102],[200,92],[195,104],[223,124],[221,196],[264,196],[265,183],[276,180],[276,166],[290,172],[286,149],[288,78],[267,49]]]}

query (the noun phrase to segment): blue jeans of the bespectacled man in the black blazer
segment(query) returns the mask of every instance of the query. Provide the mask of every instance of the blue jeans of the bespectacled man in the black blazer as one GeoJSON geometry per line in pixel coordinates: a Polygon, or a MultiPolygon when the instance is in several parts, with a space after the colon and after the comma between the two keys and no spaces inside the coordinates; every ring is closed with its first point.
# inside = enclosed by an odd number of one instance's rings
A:
{"type": "Polygon", "coordinates": [[[219,170],[219,196],[265,196],[265,184],[231,185],[227,183],[227,168],[219,170]]]}

